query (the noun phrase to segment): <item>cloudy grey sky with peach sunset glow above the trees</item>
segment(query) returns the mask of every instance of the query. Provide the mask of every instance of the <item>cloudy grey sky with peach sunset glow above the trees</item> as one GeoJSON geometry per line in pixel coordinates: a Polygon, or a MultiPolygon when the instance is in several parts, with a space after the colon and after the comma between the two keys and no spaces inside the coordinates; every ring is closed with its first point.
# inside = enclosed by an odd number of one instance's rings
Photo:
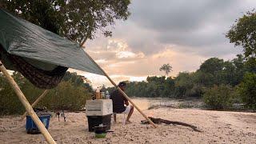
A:
{"type": "MultiPolygon", "coordinates": [[[[241,54],[225,34],[255,6],[254,0],[133,0],[130,17],[108,28],[113,36],[98,34],[85,50],[117,83],[164,75],[159,68],[166,63],[176,76],[198,70],[208,58],[230,60],[241,54]]],[[[84,75],[94,87],[111,86],[103,76],[70,71],[84,75]]]]}

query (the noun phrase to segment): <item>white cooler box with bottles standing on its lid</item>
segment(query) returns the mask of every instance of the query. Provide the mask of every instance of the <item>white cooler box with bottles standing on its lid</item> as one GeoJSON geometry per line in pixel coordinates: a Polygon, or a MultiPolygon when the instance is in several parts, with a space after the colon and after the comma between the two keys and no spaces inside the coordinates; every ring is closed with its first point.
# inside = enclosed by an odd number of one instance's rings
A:
{"type": "Polygon", "coordinates": [[[113,104],[111,99],[95,99],[86,101],[87,116],[102,116],[113,114],[113,104]]]}

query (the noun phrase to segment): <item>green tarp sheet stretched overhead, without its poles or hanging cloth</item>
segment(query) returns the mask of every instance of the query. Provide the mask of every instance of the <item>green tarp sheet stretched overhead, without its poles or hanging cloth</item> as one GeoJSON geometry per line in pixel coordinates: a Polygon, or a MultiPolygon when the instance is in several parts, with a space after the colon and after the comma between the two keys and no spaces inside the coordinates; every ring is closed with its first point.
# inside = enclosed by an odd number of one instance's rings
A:
{"type": "Polygon", "coordinates": [[[0,44],[9,54],[21,56],[42,70],[65,66],[101,74],[80,46],[49,30],[0,9],[0,44]]]}

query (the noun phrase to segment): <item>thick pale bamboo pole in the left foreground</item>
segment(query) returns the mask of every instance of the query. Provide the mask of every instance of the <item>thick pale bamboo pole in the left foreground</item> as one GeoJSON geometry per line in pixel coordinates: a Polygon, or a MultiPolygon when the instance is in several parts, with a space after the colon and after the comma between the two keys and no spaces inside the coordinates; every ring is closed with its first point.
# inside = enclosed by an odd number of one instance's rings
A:
{"type": "Polygon", "coordinates": [[[30,106],[30,102],[27,101],[25,95],[22,93],[22,90],[20,90],[17,83],[14,81],[14,78],[12,78],[10,76],[10,74],[6,70],[6,67],[3,66],[1,61],[0,61],[0,70],[2,71],[2,74],[4,74],[6,76],[6,79],[10,83],[10,86],[14,89],[14,91],[17,94],[19,100],[22,102],[22,105],[26,108],[27,113],[30,114],[30,117],[33,119],[35,124],[38,126],[38,129],[41,131],[42,135],[46,138],[46,141],[50,144],[52,144],[52,143],[55,144],[56,142],[51,137],[48,130],[46,130],[46,127],[42,124],[42,122],[38,118],[38,115],[35,114],[32,106],[30,106]]]}

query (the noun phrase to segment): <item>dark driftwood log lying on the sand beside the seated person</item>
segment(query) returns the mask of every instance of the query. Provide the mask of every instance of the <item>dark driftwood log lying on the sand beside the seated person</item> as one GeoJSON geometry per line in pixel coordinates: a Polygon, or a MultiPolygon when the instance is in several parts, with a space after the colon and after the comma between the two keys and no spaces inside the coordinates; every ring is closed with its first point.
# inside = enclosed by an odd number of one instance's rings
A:
{"type": "MultiPolygon", "coordinates": [[[[169,120],[162,119],[162,118],[152,118],[152,117],[149,117],[149,118],[150,118],[150,120],[151,120],[152,122],[154,122],[155,124],[165,123],[165,124],[167,124],[167,125],[173,124],[173,125],[188,126],[188,127],[190,127],[191,129],[193,129],[194,131],[202,132],[201,130],[198,130],[197,126],[193,126],[193,125],[190,125],[190,124],[187,124],[187,123],[184,123],[184,122],[169,121],[169,120]]],[[[142,124],[149,124],[149,122],[146,121],[146,120],[142,120],[141,122],[142,122],[142,124]]]]}

